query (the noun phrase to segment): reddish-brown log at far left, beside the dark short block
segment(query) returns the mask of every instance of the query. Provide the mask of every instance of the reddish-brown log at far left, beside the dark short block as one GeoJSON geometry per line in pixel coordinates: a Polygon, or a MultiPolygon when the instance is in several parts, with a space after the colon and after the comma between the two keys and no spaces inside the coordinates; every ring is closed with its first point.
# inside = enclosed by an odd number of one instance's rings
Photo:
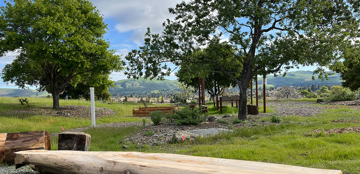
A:
{"type": "Polygon", "coordinates": [[[5,163],[14,163],[14,152],[23,150],[50,150],[50,133],[46,131],[7,133],[5,140],[5,163]]]}

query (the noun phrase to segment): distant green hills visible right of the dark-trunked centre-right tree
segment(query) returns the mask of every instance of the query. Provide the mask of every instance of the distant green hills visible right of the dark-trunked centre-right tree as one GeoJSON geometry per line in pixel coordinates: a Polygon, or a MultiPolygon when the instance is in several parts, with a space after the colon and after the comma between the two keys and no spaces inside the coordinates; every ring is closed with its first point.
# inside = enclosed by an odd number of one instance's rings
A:
{"type": "MultiPolygon", "coordinates": [[[[285,77],[282,75],[278,75],[277,77],[267,76],[267,84],[275,86],[303,86],[307,84],[337,85],[342,82],[340,74],[331,75],[329,76],[329,80],[324,80],[324,82],[321,82],[321,79],[317,79],[317,75],[315,75],[315,80],[312,80],[312,76],[312,71],[292,71],[288,72],[285,77]]],[[[258,79],[258,84],[262,84],[262,78],[258,79]]]]}

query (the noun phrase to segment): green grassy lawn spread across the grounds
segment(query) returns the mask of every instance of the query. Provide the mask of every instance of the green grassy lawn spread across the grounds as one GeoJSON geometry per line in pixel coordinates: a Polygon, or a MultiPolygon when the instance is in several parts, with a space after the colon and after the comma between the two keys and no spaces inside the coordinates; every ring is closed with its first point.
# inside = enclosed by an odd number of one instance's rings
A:
{"type": "MultiPolygon", "coordinates": [[[[31,107],[51,106],[52,99],[30,98],[31,107]]],[[[285,100],[282,102],[313,102],[316,99],[285,100]]],[[[90,105],[90,102],[80,100],[60,100],[60,105],[90,105]]],[[[20,105],[17,98],[0,98],[0,133],[15,131],[46,130],[50,133],[63,132],[64,128],[78,128],[90,126],[91,121],[87,119],[75,119],[51,116],[13,116],[7,115],[6,111],[14,109],[26,109],[20,105]],[[47,125],[47,122],[50,122],[47,125]]],[[[140,122],[140,118],[129,117],[134,103],[95,103],[96,107],[111,108],[118,113],[97,119],[96,123],[112,122],[140,122]]],[[[209,115],[219,115],[207,103],[209,115]]],[[[153,106],[150,105],[149,106],[153,106]]],[[[165,105],[163,105],[165,106],[165,105]]],[[[325,107],[327,105],[319,105],[325,107]]],[[[274,112],[271,107],[267,112],[274,112]]],[[[259,111],[262,108],[259,107],[259,111]]],[[[230,106],[223,107],[222,114],[237,114],[238,110],[230,106]]],[[[357,127],[359,123],[332,123],[335,120],[360,120],[360,110],[337,107],[334,109],[323,109],[323,113],[310,116],[283,116],[280,124],[268,126],[253,126],[251,128],[234,129],[232,132],[222,133],[216,136],[198,138],[193,142],[182,144],[162,144],[155,147],[145,145],[138,148],[132,142],[119,141],[126,135],[138,132],[141,127],[102,127],[84,130],[91,135],[91,151],[124,151],[122,145],[127,145],[127,151],[163,152],[194,156],[219,157],[226,159],[239,159],[250,161],[261,161],[268,163],[289,164],[306,166],[312,168],[337,169],[343,173],[360,174],[360,134],[341,133],[325,135],[304,136],[303,133],[315,129],[333,129],[357,127]]],[[[261,118],[257,121],[269,121],[269,118],[261,118]]],[[[57,137],[51,137],[51,149],[57,149],[57,137]]]]}

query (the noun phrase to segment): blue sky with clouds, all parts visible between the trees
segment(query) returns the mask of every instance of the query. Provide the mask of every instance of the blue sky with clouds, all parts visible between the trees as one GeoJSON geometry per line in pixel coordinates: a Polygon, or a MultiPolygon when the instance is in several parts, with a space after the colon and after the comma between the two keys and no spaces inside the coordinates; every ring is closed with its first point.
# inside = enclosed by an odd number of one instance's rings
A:
{"type": "MultiPolygon", "coordinates": [[[[144,43],[144,34],[150,27],[152,33],[161,33],[162,23],[166,19],[174,19],[174,15],[168,13],[169,7],[175,7],[181,0],[90,0],[104,17],[104,22],[108,24],[109,30],[104,35],[105,39],[111,43],[111,48],[116,49],[116,54],[125,57],[126,54],[138,49],[144,43]]],[[[4,2],[0,2],[3,6],[4,2]]],[[[5,64],[10,64],[14,59],[13,54],[0,57],[0,72],[5,64]]],[[[297,70],[315,70],[315,66],[301,67],[297,70]]],[[[175,71],[176,72],[176,71],[175,71]]],[[[127,79],[123,72],[114,72],[110,75],[112,80],[127,79]]],[[[166,77],[175,80],[172,73],[166,77]]],[[[17,88],[14,84],[4,83],[0,79],[0,88],[17,88]]],[[[30,87],[35,89],[35,87],[30,87]]]]}

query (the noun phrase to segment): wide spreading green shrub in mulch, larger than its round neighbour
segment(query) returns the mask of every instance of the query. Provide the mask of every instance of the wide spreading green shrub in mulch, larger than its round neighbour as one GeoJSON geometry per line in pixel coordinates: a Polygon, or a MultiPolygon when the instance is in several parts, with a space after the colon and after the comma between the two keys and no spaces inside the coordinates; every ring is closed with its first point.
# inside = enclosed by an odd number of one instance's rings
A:
{"type": "Polygon", "coordinates": [[[174,110],[174,113],[169,112],[165,114],[165,119],[176,125],[198,125],[200,122],[206,120],[207,116],[201,113],[199,107],[190,108],[186,105],[179,110],[174,110]]]}

